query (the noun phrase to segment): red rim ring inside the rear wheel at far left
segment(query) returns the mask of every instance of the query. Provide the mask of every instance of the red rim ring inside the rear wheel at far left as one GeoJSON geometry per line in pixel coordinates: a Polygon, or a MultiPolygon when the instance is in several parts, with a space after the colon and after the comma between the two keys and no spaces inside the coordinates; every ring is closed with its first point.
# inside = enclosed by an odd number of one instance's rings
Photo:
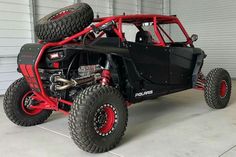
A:
{"type": "Polygon", "coordinates": [[[28,107],[26,107],[25,105],[25,101],[27,98],[29,98],[30,96],[33,95],[33,92],[32,91],[29,91],[27,92],[22,100],[21,100],[21,109],[24,111],[24,113],[26,113],[27,115],[30,115],[30,116],[35,116],[37,114],[39,114],[40,112],[42,112],[43,109],[30,109],[28,107]]]}

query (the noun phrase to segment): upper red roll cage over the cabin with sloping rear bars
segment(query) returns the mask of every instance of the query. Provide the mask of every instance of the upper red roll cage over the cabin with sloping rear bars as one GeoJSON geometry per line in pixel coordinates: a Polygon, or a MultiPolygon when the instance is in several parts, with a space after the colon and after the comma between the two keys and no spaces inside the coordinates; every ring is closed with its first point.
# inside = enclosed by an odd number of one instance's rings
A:
{"type": "MultiPolygon", "coordinates": [[[[166,15],[158,15],[158,14],[118,15],[118,16],[96,18],[93,20],[93,22],[94,24],[85,28],[81,32],[78,32],[59,42],[47,43],[45,47],[47,48],[47,47],[52,47],[52,46],[61,46],[61,45],[73,42],[74,39],[82,37],[85,34],[88,34],[91,31],[95,31],[95,29],[99,29],[103,27],[104,25],[107,25],[108,23],[112,23],[112,22],[116,23],[116,27],[112,27],[112,29],[117,34],[117,36],[121,39],[121,41],[125,40],[123,36],[123,32],[122,32],[122,23],[132,23],[136,25],[136,24],[142,24],[144,22],[153,22],[155,34],[157,35],[160,41],[160,43],[158,43],[158,46],[163,46],[163,47],[167,46],[167,44],[164,42],[163,37],[160,33],[160,30],[157,27],[158,24],[176,23],[179,25],[180,29],[185,35],[187,39],[186,43],[193,46],[191,38],[189,37],[187,31],[184,29],[183,25],[181,24],[181,22],[176,16],[166,16],[166,15]]],[[[98,37],[101,37],[103,34],[104,34],[104,31],[101,31],[98,37]]],[[[42,41],[40,41],[40,43],[42,43],[42,41]]]]}

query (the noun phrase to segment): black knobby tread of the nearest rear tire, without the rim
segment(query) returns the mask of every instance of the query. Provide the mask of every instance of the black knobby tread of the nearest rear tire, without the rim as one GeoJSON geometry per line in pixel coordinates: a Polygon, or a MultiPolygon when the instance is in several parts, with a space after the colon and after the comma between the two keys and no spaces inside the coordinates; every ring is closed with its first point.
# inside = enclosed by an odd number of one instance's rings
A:
{"type": "Polygon", "coordinates": [[[91,114],[90,111],[92,111],[94,107],[93,104],[96,103],[96,100],[98,100],[99,97],[109,95],[115,95],[119,99],[121,99],[122,102],[124,102],[124,99],[118,90],[110,86],[102,85],[95,85],[86,88],[78,95],[77,99],[74,100],[74,104],[69,116],[69,129],[72,139],[82,150],[91,153],[106,152],[114,148],[120,142],[122,136],[124,135],[128,121],[128,111],[125,103],[123,103],[123,107],[126,111],[125,123],[123,125],[123,128],[121,129],[119,137],[115,139],[112,145],[97,145],[94,142],[93,136],[91,136],[93,134],[91,130],[84,129],[88,127],[87,120],[89,119],[89,115],[91,114]]]}

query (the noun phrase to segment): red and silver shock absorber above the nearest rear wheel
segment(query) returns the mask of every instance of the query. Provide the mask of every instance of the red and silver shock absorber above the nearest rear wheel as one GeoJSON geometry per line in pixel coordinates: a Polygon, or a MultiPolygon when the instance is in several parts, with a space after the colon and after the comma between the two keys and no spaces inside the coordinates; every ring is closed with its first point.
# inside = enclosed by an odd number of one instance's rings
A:
{"type": "Polygon", "coordinates": [[[111,56],[107,55],[106,66],[103,69],[102,74],[101,74],[101,77],[102,77],[101,84],[102,85],[109,85],[109,83],[110,83],[110,79],[111,79],[111,72],[110,72],[111,64],[110,64],[110,61],[111,61],[111,56]]]}

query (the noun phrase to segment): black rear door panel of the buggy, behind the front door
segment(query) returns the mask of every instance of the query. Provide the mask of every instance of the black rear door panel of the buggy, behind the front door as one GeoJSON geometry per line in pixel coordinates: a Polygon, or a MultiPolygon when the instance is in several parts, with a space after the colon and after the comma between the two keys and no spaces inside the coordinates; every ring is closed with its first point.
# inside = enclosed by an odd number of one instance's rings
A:
{"type": "Polygon", "coordinates": [[[168,48],[129,42],[129,51],[140,75],[155,84],[169,79],[168,48]]]}

